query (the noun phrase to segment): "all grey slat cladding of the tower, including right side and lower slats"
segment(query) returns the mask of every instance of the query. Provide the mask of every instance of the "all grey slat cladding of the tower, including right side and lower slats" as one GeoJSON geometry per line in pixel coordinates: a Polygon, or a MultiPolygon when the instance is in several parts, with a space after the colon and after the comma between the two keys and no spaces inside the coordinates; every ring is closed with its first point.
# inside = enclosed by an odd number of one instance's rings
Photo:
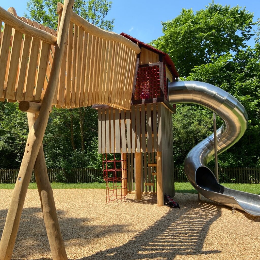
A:
{"type": "MultiPolygon", "coordinates": [[[[134,154],[142,152],[141,181],[156,183],[157,152],[162,152],[164,193],[174,196],[172,112],[162,103],[131,106],[131,110],[98,109],[99,153],[127,153],[128,191],[134,191],[134,154]]],[[[155,185],[142,192],[156,193],[155,185]]]]}

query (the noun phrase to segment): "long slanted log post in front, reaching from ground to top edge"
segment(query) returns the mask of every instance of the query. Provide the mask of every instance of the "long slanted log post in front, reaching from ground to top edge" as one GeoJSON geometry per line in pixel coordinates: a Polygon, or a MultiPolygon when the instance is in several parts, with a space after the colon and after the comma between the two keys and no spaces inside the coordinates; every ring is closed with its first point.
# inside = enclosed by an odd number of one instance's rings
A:
{"type": "Polygon", "coordinates": [[[0,242],[0,260],[11,259],[14,244],[20,224],[23,204],[27,189],[30,183],[36,157],[42,145],[44,132],[48,123],[49,112],[59,80],[61,62],[63,59],[64,48],[67,40],[68,27],[72,14],[74,0],[65,0],[60,27],[57,35],[57,43],[53,58],[53,65],[50,72],[48,85],[42,100],[39,116],[33,127],[30,129],[25,153],[23,155],[20,171],[15,184],[10,207],[7,213],[6,222],[0,242]]]}

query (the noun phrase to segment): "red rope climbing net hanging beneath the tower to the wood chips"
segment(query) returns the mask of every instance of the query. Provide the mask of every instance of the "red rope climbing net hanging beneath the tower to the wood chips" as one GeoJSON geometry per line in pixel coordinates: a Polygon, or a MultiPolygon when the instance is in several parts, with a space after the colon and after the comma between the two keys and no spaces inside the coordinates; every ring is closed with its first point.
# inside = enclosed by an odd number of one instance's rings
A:
{"type": "Polygon", "coordinates": [[[122,171],[126,170],[122,168],[123,162],[124,160],[121,157],[116,158],[115,154],[103,154],[103,174],[106,181],[106,202],[108,204],[118,199],[125,201],[127,187],[122,187],[125,180],[122,177],[122,171]]]}

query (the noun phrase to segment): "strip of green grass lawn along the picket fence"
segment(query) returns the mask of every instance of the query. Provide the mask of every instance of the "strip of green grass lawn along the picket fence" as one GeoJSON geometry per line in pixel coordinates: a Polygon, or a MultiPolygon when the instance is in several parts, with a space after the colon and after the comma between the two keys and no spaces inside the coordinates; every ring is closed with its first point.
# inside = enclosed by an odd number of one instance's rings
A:
{"type": "MultiPolygon", "coordinates": [[[[260,194],[260,184],[222,183],[223,186],[254,194],[260,194]]],[[[0,189],[14,189],[15,184],[0,184],[0,189]]],[[[106,189],[106,183],[51,183],[53,189],[106,189]]],[[[30,183],[29,189],[37,189],[36,183],[30,183]]],[[[175,192],[198,193],[188,182],[176,182],[175,192]]]]}

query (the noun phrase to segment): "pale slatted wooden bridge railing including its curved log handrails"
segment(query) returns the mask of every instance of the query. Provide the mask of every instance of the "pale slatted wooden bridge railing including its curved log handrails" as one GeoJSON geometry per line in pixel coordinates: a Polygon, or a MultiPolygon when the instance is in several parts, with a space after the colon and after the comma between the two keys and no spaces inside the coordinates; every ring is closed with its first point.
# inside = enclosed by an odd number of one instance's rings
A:
{"type": "MultiPolygon", "coordinates": [[[[62,8],[59,3],[59,14],[62,8]]],[[[41,102],[53,63],[56,32],[0,8],[2,24],[0,100],[41,102]]],[[[73,13],[53,105],[106,104],[130,109],[139,52],[125,37],[101,30],[73,13]]]]}

